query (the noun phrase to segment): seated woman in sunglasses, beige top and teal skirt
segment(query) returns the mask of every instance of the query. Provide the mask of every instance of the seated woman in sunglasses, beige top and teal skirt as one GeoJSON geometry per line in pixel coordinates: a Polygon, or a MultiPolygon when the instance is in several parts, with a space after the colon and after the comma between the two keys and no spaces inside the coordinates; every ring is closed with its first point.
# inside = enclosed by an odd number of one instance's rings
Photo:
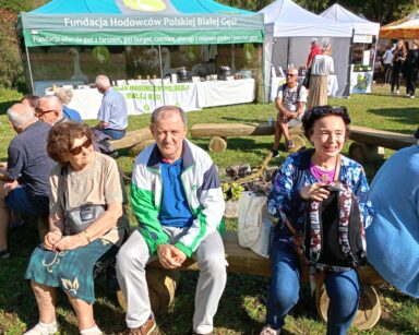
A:
{"type": "Polygon", "coordinates": [[[123,192],[116,161],[94,151],[86,124],[55,125],[47,149],[58,165],[50,175],[49,232],[29,261],[39,322],[25,334],[55,334],[56,288],[69,297],[81,334],[101,334],[93,314],[93,268],[115,253],[125,231],[123,192]]]}

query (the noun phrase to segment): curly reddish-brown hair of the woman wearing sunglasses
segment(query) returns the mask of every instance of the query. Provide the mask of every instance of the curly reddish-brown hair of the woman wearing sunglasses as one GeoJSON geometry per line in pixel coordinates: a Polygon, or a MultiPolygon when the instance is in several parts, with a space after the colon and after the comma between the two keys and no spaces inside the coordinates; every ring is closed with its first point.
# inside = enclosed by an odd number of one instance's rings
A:
{"type": "Polygon", "coordinates": [[[80,122],[61,122],[51,128],[48,133],[47,152],[57,163],[63,165],[67,163],[67,155],[74,144],[75,139],[86,136],[94,142],[94,135],[91,128],[80,122]]]}

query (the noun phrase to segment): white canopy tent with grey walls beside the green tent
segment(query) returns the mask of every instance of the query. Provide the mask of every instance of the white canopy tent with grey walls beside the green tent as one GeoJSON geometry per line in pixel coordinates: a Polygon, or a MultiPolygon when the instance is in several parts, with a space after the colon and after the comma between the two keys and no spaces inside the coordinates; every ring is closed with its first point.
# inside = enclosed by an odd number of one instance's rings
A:
{"type": "MultiPolygon", "coordinates": [[[[348,60],[352,37],[352,25],[338,23],[313,14],[291,0],[276,0],[260,11],[264,14],[265,79],[271,77],[272,65],[286,69],[289,64],[306,64],[313,37],[332,43],[335,74],[338,81],[337,96],[342,96],[348,84],[348,60]]],[[[267,84],[267,83],[266,83],[267,84]]]]}

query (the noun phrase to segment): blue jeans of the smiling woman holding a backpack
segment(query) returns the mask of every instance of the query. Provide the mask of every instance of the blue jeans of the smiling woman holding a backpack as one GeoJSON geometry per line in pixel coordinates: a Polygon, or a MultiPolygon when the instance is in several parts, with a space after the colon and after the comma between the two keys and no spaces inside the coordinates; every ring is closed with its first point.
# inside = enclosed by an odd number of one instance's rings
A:
{"type": "MultiPolygon", "coordinates": [[[[274,330],[298,302],[300,291],[299,264],[294,247],[275,241],[271,252],[272,282],[266,299],[266,324],[274,330]]],[[[358,309],[359,283],[354,270],[327,273],[325,278],[331,299],[327,311],[327,334],[346,334],[358,309]]]]}

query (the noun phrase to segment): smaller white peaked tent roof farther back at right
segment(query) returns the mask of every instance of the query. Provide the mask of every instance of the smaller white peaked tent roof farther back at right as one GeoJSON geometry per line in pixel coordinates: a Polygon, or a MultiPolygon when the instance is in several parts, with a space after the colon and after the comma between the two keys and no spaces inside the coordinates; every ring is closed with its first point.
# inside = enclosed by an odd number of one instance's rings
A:
{"type": "Polygon", "coordinates": [[[351,23],[355,29],[355,34],[358,35],[379,35],[380,23],[371,22],[360,16],[357,16],[352,12],[343,8],[340,4],[335,3],[326,9],[321,16],[342,23],[351,23]]]}

